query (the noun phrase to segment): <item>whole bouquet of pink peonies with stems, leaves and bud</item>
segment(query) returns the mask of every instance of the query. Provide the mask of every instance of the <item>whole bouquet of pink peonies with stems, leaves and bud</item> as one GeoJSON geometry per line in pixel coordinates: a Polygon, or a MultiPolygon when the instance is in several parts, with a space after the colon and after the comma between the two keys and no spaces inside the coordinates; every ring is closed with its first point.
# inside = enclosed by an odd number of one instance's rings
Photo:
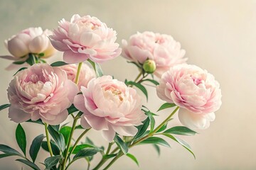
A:
{"type": "Polygon", "coordinates": [[[136,33],[122,40],[122,49],[116,39],[116,31],[98,18],[74,15],[70,21],[61,20],[53,32],[28,28],[5,41],[11,55],[1,58],[13,60],[8,69],[18,71],[7,89],[9,103],[0,110],[9,108],[10,120],[18,123],[16,142],[21,151],[1,144],[0,158],[18,157],[16,161],[36,170],[39,164],[49,170],[70,169],[78,159],[85,159],[87,169],[109,169],[124,155],[139,165],[129,149],[153,145],[160,152],[159,145],[169,147],[166,138],[193,154],[178,136],[195,135],[194,130],[208,128],[215,119],[221,105],[218,81],[206,70],[186,64],[185,51],[170,35],[136,33]],[[63,61],[47,64],[56,50],[63,52],[63,61]],[[119,55],[138,68],[134,81],[103,74],[100,63],[119,55]],[[158,111],[174,108],[159,125],[156,111],[142,102],[149,97],[149,84],[165,101],[158,111]],[[175,113],[182,125],[170,127],[175,113]],[[72,125],[65,122],[68,117],[72,125]],[[45,128],[29,153],[23,123],[45,128]],[[94,145],[86,135],[92,129],[102,133],[106,148],[94,145]],[[75,131],[80,132],[77,139],[75,131]],[[36,161],[43,150],[49,157],[36,161]],[[94,160],[95,154],[101,159],[94,160]],[[96,166],[90,166],[92,161],[96,166]]]}

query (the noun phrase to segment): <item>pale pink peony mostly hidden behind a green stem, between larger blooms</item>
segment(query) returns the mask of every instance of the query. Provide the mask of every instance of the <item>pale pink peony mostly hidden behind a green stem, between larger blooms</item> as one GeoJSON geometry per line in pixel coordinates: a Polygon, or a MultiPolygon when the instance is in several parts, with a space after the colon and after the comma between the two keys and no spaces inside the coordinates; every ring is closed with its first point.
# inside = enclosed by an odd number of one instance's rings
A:
{"type": "MultiPolygon", "coordinates": [[[[78,65],[68,64],[68,65],[63,65],[59,68],[63,69],[67,73],[68,79],[75,82],[75,77],[78,72],[78,65]]],[[[78,88],[81,89],[81,86],[87,87],[88,82],[95,77],[96,77],[95,71],[92,68],[90,68],[87,64],[82,64],[82,67],[80,69],[78,88]]]]}

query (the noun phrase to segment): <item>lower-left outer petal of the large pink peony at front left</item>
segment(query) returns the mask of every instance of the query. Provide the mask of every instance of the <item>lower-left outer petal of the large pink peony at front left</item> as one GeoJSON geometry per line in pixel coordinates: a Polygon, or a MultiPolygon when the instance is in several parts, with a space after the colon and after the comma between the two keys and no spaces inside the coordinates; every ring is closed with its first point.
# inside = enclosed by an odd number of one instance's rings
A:
{"type": "Polygon", "coordinates": [[[22,123],[31,118],[31,114],[21,111],[20,109],[10,106],[9,118],[16,123],[22,123]]]}

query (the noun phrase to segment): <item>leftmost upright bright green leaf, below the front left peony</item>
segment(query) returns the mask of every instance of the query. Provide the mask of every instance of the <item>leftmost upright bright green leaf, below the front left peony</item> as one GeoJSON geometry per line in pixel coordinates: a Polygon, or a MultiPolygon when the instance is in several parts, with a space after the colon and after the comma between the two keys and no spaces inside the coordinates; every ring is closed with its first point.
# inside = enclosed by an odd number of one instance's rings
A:
{"type": "Polygon", "coordinates": [[[21,151],[26,156],[26,134],[20,123],[18,123],[16,128],[16,141],[18,143],[18,147],[21,148],[21,151]]]}

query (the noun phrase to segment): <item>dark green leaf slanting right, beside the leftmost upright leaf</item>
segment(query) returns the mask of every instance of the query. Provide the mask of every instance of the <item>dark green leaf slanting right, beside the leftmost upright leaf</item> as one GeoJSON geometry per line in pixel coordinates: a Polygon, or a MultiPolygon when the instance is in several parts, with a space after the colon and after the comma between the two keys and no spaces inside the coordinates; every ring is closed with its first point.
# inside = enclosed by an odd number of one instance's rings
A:
{"type": "Polygon", "coordinates": [[[35,162],[35,160],[36,160],[37,154],[38,154],[39,149],[43,142],[43,138],[45,138],[45,136],[43,134],[38,135],[37,137],[35,137],[35,139],[33,140],[32,144],[31,144],[31,147],[29,149],[29,154],[30,154],[33,162],[35,162]]]}

